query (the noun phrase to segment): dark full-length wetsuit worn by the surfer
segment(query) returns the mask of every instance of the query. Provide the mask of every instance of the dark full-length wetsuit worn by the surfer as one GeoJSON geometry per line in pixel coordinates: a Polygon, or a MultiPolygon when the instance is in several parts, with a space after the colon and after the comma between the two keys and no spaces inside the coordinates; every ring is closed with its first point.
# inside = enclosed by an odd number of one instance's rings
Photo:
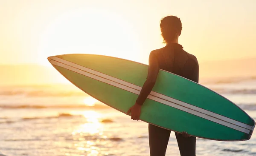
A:
{"type": "MultiPolygon", "coordinates": [[[[196,57],[183,50],[177,43],[167,44],[161,49],[154,50],[149,55],[148,77],[136,101],[143,105],[152,91],[159,69],[172,72],[194,82],[198,82],[199,65],[196,57]]],[[[165,156],[170,130],[148,125],[149,147],[151,156],[165,156]]],[[[195,156],[195,137],[185,138],[175,133],[181,156],[195,156]]]]}

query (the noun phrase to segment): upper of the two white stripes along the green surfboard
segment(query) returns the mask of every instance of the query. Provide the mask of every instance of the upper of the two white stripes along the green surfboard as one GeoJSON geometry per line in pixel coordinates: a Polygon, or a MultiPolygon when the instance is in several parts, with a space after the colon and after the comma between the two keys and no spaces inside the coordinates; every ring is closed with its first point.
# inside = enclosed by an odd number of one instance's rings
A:
{"type": "MultiPolygon", "coordinates": [[[[92,69],[90,69],[90,68],[86,68],[86,67],[84,67],[84,66],[78,65],[78,64],[73,63],[73,62],[69,62],[69,61],[67,61],[67,60],[63,60],[63,59],[58,58],[58,57],[51,57],[50,59],[55,60],[55,61],[58,61],[58,62],[62,62],[62,63],[64,63],[64,64],[66,64],[66,65],[69,65],[69,66],[72,66],[72,67],[75,67],[75,68],[79,68],[79,69],[81,69],[81,70],[83,70],[83,71],[87,71],[87,72],[92,73],[92,74],[94,74],[94,75],[97,75],[97,76],[99,76],[99,77],[104,77],[104,78],[109,79],[109,80],[111,80],[111,81],[120,83],[120,84],[122,84],[122,85],[126,85],[126,86],[128,86],[128,87],[130,87],[130,88],[134,88],[134,89],[136,89],[136,90],[138,90],[138,91],[141,91],[141,89],[142,89],[140,86],[137,86],[137,85],[134,85],[134,84],[132,84],[132,83],[123,81],[123,80],[121,80],[121,79],[117,79],[117,78],[115,78],[115,77],[111,77],[111,76],[109,76],[109,75],[107,75],[107,74],[103,74],[103,73],[101,73],[101,72],[99,72],[99,71],[94,71],[94,70],[92,70],[92,69]]],[[[224,121],[226,121],[226,122],[230,122],[230,123],[232,123],[232,124],[234,124],[234,125],[238,125],[238,126],[240,126],[240,127],[246,128],[246,129],[248,129],[248,130],[253,130],[253,127],[250,126],[250,125],[244,124],[244,123],[239,122],[239,121],[236,121],[236,120],[234,120],[234,119],[230,119],[230,118],[228,118],[228,117],[226,117],[226,116],[222,116],[222,115],[219,115],[219,114],[217,114],[217,113],[213,113],[213,112],[211,112],[211,111],[207,111],[207,110],[205,110],[205,109],[203,109],[203,108],[199,108],[199,107],[196,107],[196,106],[194,106],[194,105],[190,105],[190,104],[188,104],[188,103],[186,103],[186,102],[182,102],[182,101],[179,101],[179,100],[177,100],[177,99],[173,99],[173,98],[171,98],[171,97],[169,97],[169,96],[165,96],[165,95],[163,95],[163,94],[159,94],[159,93],[154,92],[154,91],[151,91],[150,95],[157,96],[157,97],[159,97],[159,98],[161,98],[161,99],[165,99],[165,100],[167,100],[167,101],[169,101],[169,102],[173,102],[173,103],[175,103],[175,104],[182,105],[182,106],[184,106],[184,107],[186,107],[186,108],[189,108],[189,109],[192,109],[192,110],[195,110],[195,111],[198,111],[198,112],[207,114],[207,115],[209,115],[209,116],[212,116],[212,117],[215,117],[215,118],[224,120],[224,121]]]]}

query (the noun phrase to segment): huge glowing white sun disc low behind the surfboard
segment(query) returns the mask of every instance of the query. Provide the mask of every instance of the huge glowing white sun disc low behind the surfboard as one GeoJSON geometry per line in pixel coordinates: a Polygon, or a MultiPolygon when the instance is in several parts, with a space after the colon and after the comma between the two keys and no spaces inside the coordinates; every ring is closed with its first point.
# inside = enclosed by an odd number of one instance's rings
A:
{"type": "Polygon", "coordinates": [[[133,23],[114,12],[93,8],[61,14],[39,36],[38,63],[44,66],[50,66],[49,56],[74,53],[134,60],[140,46],[133,23]]]}

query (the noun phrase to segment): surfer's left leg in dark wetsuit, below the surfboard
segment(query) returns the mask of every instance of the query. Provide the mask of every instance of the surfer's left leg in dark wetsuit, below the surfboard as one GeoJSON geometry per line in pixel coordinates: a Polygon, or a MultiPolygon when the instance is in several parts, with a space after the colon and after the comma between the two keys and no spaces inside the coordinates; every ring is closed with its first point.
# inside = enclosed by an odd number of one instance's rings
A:
{"type": "Polygon", "coordinates": [[[148,124],[150,156],[165,156],[170,130],[148,124]]]}

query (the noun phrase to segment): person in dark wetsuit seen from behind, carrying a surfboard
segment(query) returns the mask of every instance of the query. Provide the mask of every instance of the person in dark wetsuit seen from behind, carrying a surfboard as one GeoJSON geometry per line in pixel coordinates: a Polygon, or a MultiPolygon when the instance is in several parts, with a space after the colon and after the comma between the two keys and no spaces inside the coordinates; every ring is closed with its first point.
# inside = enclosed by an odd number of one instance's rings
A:
{"type": "MultiPolygon", "coordinates": [[[[161,20],[160,28],[166,46],[149,55],[148,77],[140,95],[127,113],[131,113],[131,119],[139,120],[143,102],[150,94],[157,79],[159,69],[172,72],[194,82],[198,82],[199,65],[196,57],[183,50],[178,43],[182,30],[180,18],[167,16],[161,20]]],[[[165,156],[170,130],[148,124],[150,156],[165,156]]],[[[186,132],[182,135],[175,133],[181,156],[195,156],[196,138],[186,132]]]]}

